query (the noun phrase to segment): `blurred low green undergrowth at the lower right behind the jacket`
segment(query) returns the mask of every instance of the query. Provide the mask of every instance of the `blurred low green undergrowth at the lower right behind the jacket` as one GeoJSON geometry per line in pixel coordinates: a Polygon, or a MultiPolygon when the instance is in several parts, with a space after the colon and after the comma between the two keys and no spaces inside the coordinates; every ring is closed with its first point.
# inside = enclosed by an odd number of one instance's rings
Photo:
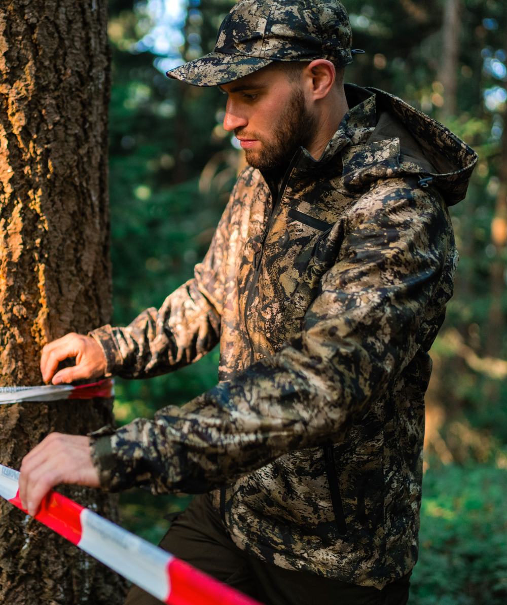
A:
{"type": "Polygon", "coordinates": [[[507,601],[507,471],[489,464],[430,468],[409,605],[507,601]]]}

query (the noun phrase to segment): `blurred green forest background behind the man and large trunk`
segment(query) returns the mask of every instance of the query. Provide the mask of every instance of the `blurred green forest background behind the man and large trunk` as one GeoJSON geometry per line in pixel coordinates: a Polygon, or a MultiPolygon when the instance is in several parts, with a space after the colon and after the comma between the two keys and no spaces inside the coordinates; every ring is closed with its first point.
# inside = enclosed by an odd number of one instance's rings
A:
{"type": "MultiPolygon", "coordinates": [[[[115,325],[191,278],[242,163],[215,88],[165,71],[212,50],[230,0],[110,0],[110,187],[115,325]]],[[[507,603],[507,4],[344,0],[355,64],[346,79],[387,90],[479,153],[450,209],[460,263],[431,350],[420,559],[410,605],[507,603]]],[[[151,381],[117,380],[125,424],[217,381],[218,352],[151,381]]],[[[123,525],[157,542],[184,494],[122,494],[123,525]]]]}

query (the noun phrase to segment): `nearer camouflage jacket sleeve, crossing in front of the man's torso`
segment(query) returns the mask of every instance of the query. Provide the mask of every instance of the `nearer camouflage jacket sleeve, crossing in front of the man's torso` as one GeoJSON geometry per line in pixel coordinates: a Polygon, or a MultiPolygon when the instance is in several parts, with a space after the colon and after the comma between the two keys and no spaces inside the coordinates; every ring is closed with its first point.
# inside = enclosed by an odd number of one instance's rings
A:
{"type": "Polygon", "coordinates": [[[426,333],[432,309],[441,318],[456,258],[442,198],[413,180],[365,194],[327,245],[336,263],[279,353],[183,408],[92,437],[103,488],[210,491],[291,450],[345,438],[353,417],[431,344],[440,327],[426,333]]]}

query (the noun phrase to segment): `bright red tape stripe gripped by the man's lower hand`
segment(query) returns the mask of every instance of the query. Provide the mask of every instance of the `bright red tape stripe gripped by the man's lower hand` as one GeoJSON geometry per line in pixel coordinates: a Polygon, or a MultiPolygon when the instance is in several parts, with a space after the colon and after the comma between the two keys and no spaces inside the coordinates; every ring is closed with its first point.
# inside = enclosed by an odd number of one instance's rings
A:
{"type": "MultiPolygon", "coordinates": [[[[18,508],[21,508],[22,511],[25,511],[21,506],[19,491],[16,494],[16,497],[9,500],[9,502],[18,506],[18,508]]],[[[77,545],[81,539],[82,530],[79,515],[83,508],[84,507],[77,502],[51,490],[45,495],[44,500],[42,500],[41,509],[35,515],[35,518],[41,523],[44,523],[44,525],[47,525],[48,528],[56,531],[57,534],[62,535],[64,538],[67,538],[67,540],[77,545]]]]}

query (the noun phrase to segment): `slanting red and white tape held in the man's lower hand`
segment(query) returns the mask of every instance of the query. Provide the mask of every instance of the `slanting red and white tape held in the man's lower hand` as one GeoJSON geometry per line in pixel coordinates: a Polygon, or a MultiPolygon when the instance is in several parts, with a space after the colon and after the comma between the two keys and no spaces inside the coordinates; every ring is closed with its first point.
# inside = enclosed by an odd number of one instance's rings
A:
{"type": "MultiPolygon", "coordinates": [[[[0,465],[0,495],[24,510],[18,482],[18,471],[0,465]]],[[[42,501],[35,518],[164,603],[259,605],[53,490],[42,501]]]]}

